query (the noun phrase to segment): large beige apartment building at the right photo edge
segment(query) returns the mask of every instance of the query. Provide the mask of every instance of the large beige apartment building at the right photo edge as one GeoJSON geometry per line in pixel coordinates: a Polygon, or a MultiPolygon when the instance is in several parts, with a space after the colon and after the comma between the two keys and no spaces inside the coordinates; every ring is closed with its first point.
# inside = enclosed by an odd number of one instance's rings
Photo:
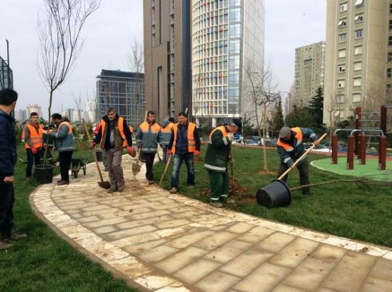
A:
{"type": "Polygon", "coordinates": [[[326,27],[324,123],[391,103],[392,1],[328,0],[326,27]]]}

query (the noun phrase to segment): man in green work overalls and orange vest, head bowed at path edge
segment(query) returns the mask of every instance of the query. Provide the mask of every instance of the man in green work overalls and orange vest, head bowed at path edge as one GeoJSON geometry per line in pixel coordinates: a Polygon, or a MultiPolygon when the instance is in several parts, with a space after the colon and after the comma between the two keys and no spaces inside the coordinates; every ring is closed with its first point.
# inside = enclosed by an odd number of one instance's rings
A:
{"type": "Polygon", "coordinates": [[[234,140],[234,133],[241,130],[242,121],[233,118],[229,125],[218,126],[211,133],[208,139],[204,167],[210,178],[210,205],[222,208],[227,202],[229,194],[229,174],[227,164],[232,162],[230,148],[234,140]]]}

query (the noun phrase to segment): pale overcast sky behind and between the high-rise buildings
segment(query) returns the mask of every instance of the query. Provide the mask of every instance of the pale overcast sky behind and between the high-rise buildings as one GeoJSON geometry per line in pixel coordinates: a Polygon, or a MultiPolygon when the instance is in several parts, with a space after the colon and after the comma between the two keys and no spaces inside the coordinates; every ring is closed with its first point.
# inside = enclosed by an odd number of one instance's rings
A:
{"type": "MultiPolygon", "coordinates": [[[[49,94],[37,71],[37,15],[42,0],[0,1],[0,56],[9,41],[16,109],[39,104],[47,116],[49,94]]],[[[127,56],[133,39],[143,39],[142,0],[102,0],[88,20],[85,44],[66,82],[54,93],[52,113],[76,108],[73,97],[93,97],[102,69],[129,71],[127,56]]],[[[281,91],[294,80],[295,48],[325,40],[326,0],[266,0],[265,60],[281,91]]],[[[90,98],[91,99],[91,98],[90,98]]]]}

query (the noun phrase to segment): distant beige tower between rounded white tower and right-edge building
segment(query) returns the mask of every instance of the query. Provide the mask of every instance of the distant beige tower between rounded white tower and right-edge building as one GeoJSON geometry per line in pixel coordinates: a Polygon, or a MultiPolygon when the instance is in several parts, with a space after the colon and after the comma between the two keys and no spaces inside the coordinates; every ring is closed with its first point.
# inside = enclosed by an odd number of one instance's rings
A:
{"type": "Polygon", "coordinates": [[[324,85],[326,42],[309,44],[295,49],[295,95],[291,102],[297,107],[308,107],[317,88],[324,85]]]}

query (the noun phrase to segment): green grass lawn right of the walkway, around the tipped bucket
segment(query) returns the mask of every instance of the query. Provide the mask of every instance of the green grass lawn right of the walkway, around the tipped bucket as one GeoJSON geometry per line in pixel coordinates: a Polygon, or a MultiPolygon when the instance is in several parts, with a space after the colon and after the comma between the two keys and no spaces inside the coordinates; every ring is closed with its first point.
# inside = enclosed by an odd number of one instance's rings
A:
{"type": "MultiPolygon", "coordinates": [[[[201,149],[201,158],[195,162],[196,186],[186,186],[186,166],[183,164],[180,174],[179,193],[194,197],[203,202],[209,201],[208,176],[203,168],[206,146],[201,149]]],[[[268,169],[274,174],[261,173],[263,166],[262,148],[234,147],[234,178],[239,185],[249,187],[242,195],[235,197],[236,204],[228,206],[238,212],[256,217],[280,221],[286,224],[302,226],[314,231],[321,231],[360,241],[392,248],[392,190],[391,187],[360,188],[355,183],[330,183],[311,188],[311,197],[302,197],[300,190],[293,190],[292,202],[287,207],[267,209],[256,203],[256,191],[268,185],[278,176],[280,160],[275,149],[267,150],[268,169]]],[[[309,161],[329,159],[323,154],[310,154],[309,161]]],[[[369,161],[369,160],[368,160],[369,161]]],[[[155,181],[159,182],[164,164],[155,166],[155,181]]],[[[171,169],[162,183],[170,189],[171,169]]],[[[321,183],[336,179],[355,177],[334,174],[310,166],[311,183],[321,183]]],[[[390,178],[392,180],[392,178],[390,178]]],[[[299,186],[299,174],[295,169],[290,172],[287,185],[299,186]]]]}

